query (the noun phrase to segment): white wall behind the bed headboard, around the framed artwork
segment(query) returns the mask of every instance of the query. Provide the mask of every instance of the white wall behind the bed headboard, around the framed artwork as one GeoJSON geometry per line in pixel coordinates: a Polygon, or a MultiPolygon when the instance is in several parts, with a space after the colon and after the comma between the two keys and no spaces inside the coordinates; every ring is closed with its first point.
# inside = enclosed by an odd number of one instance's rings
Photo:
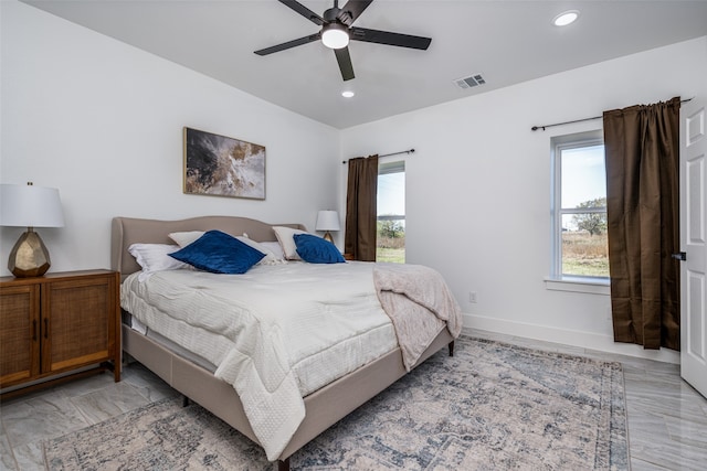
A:
{"type": "MultiPolygon", "coordinates": [[[[339,131],[15,1],[1,1],[0,181],[60,189],[52,271],[109,267],[114,216],[303,222],[338,204],[339,131]],[[182,194],[182,127],[266,147],[266,200],[182,194]],[[313,144],[316,143],[316,144],[313,144]]],[[[0,275],[21,228],[0,229],[0,275]]]]}

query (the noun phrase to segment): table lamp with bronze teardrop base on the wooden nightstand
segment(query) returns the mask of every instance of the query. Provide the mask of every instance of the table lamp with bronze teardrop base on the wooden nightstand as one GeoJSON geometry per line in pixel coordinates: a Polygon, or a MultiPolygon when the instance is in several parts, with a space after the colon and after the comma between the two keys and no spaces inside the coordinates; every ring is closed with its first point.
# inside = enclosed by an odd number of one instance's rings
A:
{"type": "Polygon", "coordinates": [[[59,190],[0,184],[0,225],[27,227],[10,251],[8,269],[18,278],[41,277],[49,270],[49,250],[34,227],[63,227],[59,190]]]}

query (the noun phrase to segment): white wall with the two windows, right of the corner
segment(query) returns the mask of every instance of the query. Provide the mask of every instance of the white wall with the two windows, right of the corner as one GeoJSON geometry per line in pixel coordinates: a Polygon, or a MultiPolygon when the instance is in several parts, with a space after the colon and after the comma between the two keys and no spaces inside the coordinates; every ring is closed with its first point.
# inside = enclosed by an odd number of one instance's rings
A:
{"type": "Polygon", "coordinates": [[[403,157],[407,258],[444,275],[465,325],[677,362],[672,351],[614,344],[609,296],[546,289],[550,138],[601,120],[530,128],[678,95],[707,96],[707,38],[349,128],[341,150],[415,149],[403,157]]]}

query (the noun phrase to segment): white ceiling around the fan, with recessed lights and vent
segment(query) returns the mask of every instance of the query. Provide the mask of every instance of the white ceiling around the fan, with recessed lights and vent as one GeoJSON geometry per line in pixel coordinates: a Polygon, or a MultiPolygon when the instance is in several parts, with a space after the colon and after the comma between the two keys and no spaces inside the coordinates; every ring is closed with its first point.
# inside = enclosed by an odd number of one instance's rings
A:
{"type": "MultiPolygon", "coordinates": [[[[333,51],[318,42],[253,53],[318,31],[274,0],[24,2],[336,128],[707,35],[707,0],[376,0],[356,26],[432,44],[416,51],[354,41],[356,78],[344,82],[333,51]],[[581,12],[576,23],[551,24],[569,9],[581,12]],[[476,73],[485,85],[453,84],[476,73]],[[345,89],[356,97],[341,97],[345,89]]],[[[321,15],[334,1],[300,3],[321,15]]]]}

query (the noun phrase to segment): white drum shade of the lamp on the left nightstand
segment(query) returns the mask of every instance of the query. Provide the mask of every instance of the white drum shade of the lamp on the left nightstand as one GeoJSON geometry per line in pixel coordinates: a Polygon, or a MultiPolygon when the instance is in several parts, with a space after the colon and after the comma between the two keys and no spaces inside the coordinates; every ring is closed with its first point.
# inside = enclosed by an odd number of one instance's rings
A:
{"type": "Polygon", "coordinates": [[[0,184],[0,225],[64,227],[59,190],[34,185],[0,184]]]}

